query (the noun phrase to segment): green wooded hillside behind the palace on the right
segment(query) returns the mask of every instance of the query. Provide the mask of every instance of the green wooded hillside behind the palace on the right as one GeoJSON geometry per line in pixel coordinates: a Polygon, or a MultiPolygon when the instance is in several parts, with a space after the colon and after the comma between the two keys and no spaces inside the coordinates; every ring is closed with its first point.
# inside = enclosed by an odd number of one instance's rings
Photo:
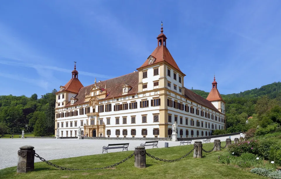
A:
{"type": "MultiPolygon", "coordinates": [[[[194,93],[207,98],[208,92],[193,90],[194,93]]],[[[266,126],[281,121],[281,82],[274,82],[261,88],[240,93],[222,95],[226,102],[227,132],[246,131],[256,125],[266,126]],[[248,117],[253,118],[246,125],[248,117]]]]}

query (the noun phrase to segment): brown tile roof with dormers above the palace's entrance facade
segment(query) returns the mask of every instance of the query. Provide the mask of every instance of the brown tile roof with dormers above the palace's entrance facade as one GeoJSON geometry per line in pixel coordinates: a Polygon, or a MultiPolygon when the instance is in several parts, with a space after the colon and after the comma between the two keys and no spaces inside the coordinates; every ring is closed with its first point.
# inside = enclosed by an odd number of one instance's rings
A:
{"type": "MultiPolygon", "coordinates": [[[[125,84],[128,84],[132,87],[131,90],[128,91],[128,94],[136,94],[138,92],[138,72],[133,72],[113,79],[101,81],[96,83],[96,86],[100,87],[102,91],[104,91],[106,85],[107,96],[105,99],[108,99],[122,96],[123,86],[125,84]]],[[[78,95],[75,96],[75,98],[78,98],[78,100],[74,103],[74,105],[85,103],[85,92],[87,91],[87,95],[89,95],[90,90],[94,85],[95,84],[80,88],[78,95]]],[[[70,106],[70,102],[66,106],[70,106]]]]}

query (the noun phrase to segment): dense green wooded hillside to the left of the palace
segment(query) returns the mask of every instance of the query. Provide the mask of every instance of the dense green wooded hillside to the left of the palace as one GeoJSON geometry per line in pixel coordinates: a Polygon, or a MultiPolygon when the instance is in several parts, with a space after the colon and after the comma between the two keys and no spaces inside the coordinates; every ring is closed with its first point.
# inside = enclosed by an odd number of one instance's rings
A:
{"type": "Polygon", "coordinates": [[[54,133],[56,89],[38,99],[37,94],[0,96],[0,136],[34,132],[36,136],[54,133]]]}

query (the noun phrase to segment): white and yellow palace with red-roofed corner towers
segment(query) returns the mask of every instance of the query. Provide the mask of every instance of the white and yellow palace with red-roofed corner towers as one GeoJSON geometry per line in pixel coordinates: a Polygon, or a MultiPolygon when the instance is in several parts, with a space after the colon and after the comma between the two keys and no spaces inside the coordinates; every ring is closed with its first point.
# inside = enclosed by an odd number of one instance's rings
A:
{"type": "Polygon", "coordinates": [[[169,50],[167,37],[133,73],[83,86],[76,63],[72,78],[56,93],[55,133],[76,137],[171,137],[177,122],[180,137],[207,137],[225,129],[225,102],[217,82],[207,99],[184,87],[186,76],[169,50]]]}

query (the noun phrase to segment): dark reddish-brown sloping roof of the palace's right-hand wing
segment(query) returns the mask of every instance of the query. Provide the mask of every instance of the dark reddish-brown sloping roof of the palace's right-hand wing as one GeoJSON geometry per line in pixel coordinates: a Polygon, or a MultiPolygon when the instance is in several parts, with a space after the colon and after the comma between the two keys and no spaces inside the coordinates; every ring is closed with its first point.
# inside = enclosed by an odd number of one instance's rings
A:
{"type": "Polygon", "coordinates": [[[220,112],[210,101],[206,100],[205,98],[201,97],[200,95],[194,93],[193,91],[184,87],[184,96],[189,98],[190,100],[199,103],[207,108],[215,110],[216,112],[220,112]]]}

